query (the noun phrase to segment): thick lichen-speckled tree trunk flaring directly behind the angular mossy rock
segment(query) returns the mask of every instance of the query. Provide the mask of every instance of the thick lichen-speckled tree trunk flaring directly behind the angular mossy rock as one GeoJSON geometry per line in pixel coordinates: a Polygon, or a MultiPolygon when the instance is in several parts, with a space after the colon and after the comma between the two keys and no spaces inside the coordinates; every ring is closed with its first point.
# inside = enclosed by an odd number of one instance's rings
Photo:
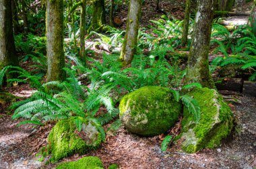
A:
{"type": "Polygon", "coordinates": [[[208,61],[213,18],[214,0],[199,0],[186,80],[187,83],[201,83],[203,87],[207,88],[214,88],[208,61]]]}

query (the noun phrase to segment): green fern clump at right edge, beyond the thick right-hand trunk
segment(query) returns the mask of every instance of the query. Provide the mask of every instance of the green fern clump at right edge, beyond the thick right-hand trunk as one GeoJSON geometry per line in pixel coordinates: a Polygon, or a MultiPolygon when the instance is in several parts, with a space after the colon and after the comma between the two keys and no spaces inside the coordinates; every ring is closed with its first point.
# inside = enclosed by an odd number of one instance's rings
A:
{"type": "Polygon", "coordinates": [[[217,44],[214,53],[221,52],[224,57],[216,57],[212,66],[240,65],[251,73],[249,80],[256,80],[256,36],[248,26],[239,26],[230,33],[227,28],[214,24],[212,44],[217,44]],[[230,55],[232,54],[232,55],[230,55]]]}

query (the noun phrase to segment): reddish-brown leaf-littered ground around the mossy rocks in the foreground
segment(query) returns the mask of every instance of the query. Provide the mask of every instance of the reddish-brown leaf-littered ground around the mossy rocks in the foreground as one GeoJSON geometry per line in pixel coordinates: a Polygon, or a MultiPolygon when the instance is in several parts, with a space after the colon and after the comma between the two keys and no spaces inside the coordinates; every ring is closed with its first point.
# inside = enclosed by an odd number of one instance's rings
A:
{"type": "MultiPolygon", "coordinates": [[[[25,86],[25,88],[28,86],[25,86]]],[[[18,88],[15,88],[18,89],[18,88]]],[[[11,90],[22,96],[31,89],[11,90]]],[[[121,168],[255,168],[256,167],[256,98],[234,94],[241,103],[229,104],[234,112],[236,127],[232,137],[216,149],[205,149],[195,154],[186,154],[177,145],[163,152],[160,137],[139,137],[121,127],[108,134],[105,143],[84,156],[98,156],[105,167],[118,164],[121,168]]],[[[2,105],[3,106],[3,105],[2,105]]],[[[24,125],[1,114],[0,118],[0,168],[54,168],[56,164],[44,165],[36,153],[46,145],[46,137],[53,124],[44,127],[24,125]]],[[[75,154],[61,162],[82,158],[75,154]]]]}

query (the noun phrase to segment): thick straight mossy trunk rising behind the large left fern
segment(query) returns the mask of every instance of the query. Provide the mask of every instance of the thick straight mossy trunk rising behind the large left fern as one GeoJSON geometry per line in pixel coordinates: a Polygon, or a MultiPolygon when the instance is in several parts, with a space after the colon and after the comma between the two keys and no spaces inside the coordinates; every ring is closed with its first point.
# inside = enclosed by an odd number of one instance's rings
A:
{"type": "Polygon", "coordinates": [[[47,81],[58,81],[65,77],[63,50],[63,0],[46,1],[46,52],[47,81]]]}

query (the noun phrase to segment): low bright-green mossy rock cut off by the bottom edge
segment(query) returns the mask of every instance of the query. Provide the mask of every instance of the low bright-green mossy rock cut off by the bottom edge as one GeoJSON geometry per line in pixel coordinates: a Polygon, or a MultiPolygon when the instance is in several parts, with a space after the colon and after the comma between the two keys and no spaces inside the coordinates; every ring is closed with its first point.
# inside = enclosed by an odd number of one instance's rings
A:
{"type": "Polygon", "coordinates": [[[89,156],[75,162],[64,162],[56,169],[104,169],[104,166],[100,158],[89,156]]]}

